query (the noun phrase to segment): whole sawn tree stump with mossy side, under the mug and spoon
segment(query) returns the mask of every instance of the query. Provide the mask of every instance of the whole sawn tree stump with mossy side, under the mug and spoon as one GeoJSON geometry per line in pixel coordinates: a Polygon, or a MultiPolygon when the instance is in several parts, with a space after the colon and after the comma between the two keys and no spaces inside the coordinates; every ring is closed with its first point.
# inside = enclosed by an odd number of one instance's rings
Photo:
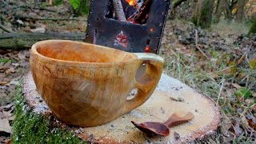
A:
{"type": "MultiPolygon", "coordinates": [[[[22,92],[20,92],[22,93],[22,96],[20,97],[24,98],[24,101],[18,101],[20,99],[15,100],[15,102],[18,102],[18,106],[15,106],[16,108],[19,108],[17,109],[19,111],[16,113],[16,119],[14,120],[14,127],[18,127],[13,130],[14,143],[26,143],[27,139],[34,139],[38,141],[30,141],[30,143],[51,142],[46,141],[46,139],[54,139],[55,143],[63,143],[63,139],[60,139],[60,142],[58,142],[56,137],[56,134],[58,134],[60,135],[58,138],[67,138],[62,136],[63,133],[58,132],[60,130],[66,130],[66,133],[73,131],[73,133],[70,133],[74,134],[72,138],[76,138],[76,136],[78,136],[80,139],[80,142],[72,142],[72,139],[69,138],[69,142],[65,141],[66,143],[222,142],[223,134],[218,128],[221,123],[221,114],[219,112],[218,106],[215,105],[215,102],[202,94],[198,94],[196,90],[193,90],[190,88],[190,86],[186,86],[186,84],[183,84],[174,78],[170,78],[166,74],[162,74],[162,77],[158,82],[159,88],[154,90],[154,93],[151,95],[149,100],[134,110],[134,114],[136,115],[124,114],[122,117],[119,117],[116,120],[108,122],[102,126],[85,128],[68,126],[64,122],[58,121],[58,118],[54,116],[46,103],[43,102],[41,95],[38,94],[38,90],[34,84],[31,73],[26,74],[22,79],[22,92]],[[175,86],[178,90],[172,90],[170,89],[170,86],[175,86]],[[179,87],[182,87],[182,90],[180,90],[179,87]],[[179,95],[182,95],[182,98],[185,102],[177,101],[179,95]],[[23,111],[22,107],[26,107],[29,110],[26,109],[23,111]],[[165,114],[162,114],[163,112],[159,112],[160,110],[165,112],[165,114]],[[162,122],[162,120],[166,119],[171,114],[174,114],[174,112],[179,112],[179,114],[182,116],[183,114],[181,111],[188,110],[196,114],[196,117],[193,118],[193,121],[187,122],[182,126],[172,127],[172,134],[166,136],[165,138],[152,138],[152,135],[148,136],[146,134],[142,134],[139,132],[139,130],[135,130],[135,127],[131,126],[130,123],[131,120],[136,122],[145,122],[145,120],[148,122],[162,122]],[[44,119],[42,121],[35,121],[33,118],[34,115],[28,113],[38,114],[44,119]],[[154,116],[152,117],[152,115],[154,116]],[[58,124],[56,124],[57,122],[58,124]],[[31,123],[37,125],[31,126],[31,123]],[[44,131],[38,129],[38,127],[40,128],[41,125],[47,126],[47,128],[44,128],[44,131]],[[118,132],[117,130],[110,129],[110,127],[113,128],[113,126],[115,129],[118,129],[118,132]],[[56,133],[48,132],[55,130],[56,127],[59,127],[59,130],[56,131],[56,133]],[[33,131],[34,134],[31,134],[30,131],[33,131]],[[174,138],[174,131],[177,133],[176,135],[181,135],[181,137],[174,138]]],[[[76,112],[77,111],[74,111],[74,113],[76,112]]]]}

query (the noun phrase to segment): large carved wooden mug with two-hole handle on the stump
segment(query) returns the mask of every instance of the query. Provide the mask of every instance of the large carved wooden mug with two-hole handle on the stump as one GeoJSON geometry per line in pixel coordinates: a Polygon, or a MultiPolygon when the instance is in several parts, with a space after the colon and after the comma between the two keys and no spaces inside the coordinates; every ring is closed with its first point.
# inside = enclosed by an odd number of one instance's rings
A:
{"type": "Polygon", "coordinates": [[[156,54],[128,53],[84,42],[37,42],[30,70],[42,99],[62,122],[98,126],[134,110],[162,74],[156,54]],[[127,99],[131,90],[138,93],[127,99]]]}

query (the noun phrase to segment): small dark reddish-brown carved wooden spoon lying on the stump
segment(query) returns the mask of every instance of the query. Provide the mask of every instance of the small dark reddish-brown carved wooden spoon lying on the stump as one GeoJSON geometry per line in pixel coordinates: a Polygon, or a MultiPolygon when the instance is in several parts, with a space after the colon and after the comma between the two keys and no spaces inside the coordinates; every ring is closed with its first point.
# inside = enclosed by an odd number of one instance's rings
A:
{"type": "Polygon", "coordinates": [[[131,121],[134,126],[136,126],[139,130],[146,134],[157,134],[162,136],[167,136],[170,134],[169,128],[171,126],[177,126],[184,122],[190,121],[194,118],[194,114],[187,113],[184,117],[178,116],[178,114],[174,113],[170,116],[170,118],[166,122],[143,122],[143,123],[136,123],[131,121]]]}

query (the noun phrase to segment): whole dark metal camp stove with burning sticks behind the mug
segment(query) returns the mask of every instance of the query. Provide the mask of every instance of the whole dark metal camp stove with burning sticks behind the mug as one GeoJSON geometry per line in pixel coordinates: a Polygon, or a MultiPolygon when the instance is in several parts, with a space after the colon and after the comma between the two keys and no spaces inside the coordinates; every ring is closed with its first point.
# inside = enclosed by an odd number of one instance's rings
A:
{"type": "Polygon", "coordinates": [[[127,22],[116,18],[112,0],[90,0],[86,42],[128,52],[158,54],[170,0],[118,0],[127,22]]]}

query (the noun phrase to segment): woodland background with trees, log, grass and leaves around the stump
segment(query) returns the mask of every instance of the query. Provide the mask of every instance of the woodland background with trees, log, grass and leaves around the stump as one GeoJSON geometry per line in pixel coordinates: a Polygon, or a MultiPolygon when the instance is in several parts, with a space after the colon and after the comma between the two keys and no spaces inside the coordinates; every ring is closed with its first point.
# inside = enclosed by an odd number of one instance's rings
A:
{"type": "MultiPolygon", "coordinates": [[[[15,139],[15,88],[29,70],[30,46],[50,38],[81,41],[89,4],[0,0],[0,142],[15,139]]],[[[256,0],[174,0],[170,8],[159,53],[164,73],[220,107],[220,134],[209,142],[255,143],[256,0]]]]}

